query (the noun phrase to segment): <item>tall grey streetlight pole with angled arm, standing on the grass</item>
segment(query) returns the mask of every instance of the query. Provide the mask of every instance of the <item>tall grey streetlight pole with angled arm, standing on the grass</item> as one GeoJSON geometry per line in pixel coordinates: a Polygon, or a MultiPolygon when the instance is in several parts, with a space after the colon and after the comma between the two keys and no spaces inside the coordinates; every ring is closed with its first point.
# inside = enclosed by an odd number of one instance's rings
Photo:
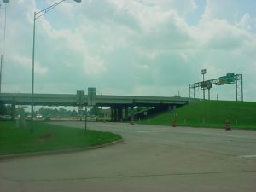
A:
{"type": "MultiPolygon", "coordinates": [[[[57,5],[61,4],[66,0],[61,0],[58,3],[55,3],[45,9],[42,9],[38,12],[34,12],[34,25],[33,25],[33,48],[32,48],[32,93],[31,93],[31,132],[34,131],[34,69],[35,69],[35,36],[36,36],[36,20],[42,15],[46,14],[49,10],[54,9],[57,5]]],[[[77,3],[81,3],[81,0],[73,0],[77,3]]]]}

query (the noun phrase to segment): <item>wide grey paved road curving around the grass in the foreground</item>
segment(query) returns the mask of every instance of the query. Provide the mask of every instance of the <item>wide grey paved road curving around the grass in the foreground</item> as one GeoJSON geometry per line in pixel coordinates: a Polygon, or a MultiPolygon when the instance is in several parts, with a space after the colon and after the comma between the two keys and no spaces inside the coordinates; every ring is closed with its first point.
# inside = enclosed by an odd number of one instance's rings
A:
{"type": "MultiPolygon", "coordinates": [[[[84,128],[83,122],[59,122],[84,128]]],[[[90,123],[105,148],[0,160],[0,191],[255,192],[256,131],[90,123]]]]}

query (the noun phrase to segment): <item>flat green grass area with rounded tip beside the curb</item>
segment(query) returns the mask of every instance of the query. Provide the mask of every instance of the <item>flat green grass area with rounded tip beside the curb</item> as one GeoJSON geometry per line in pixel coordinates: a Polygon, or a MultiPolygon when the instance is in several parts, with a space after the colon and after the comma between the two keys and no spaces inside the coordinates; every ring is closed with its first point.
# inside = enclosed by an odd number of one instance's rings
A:
{"type": "Polygon", "coordinates": [[[84,148],[121,138],[110,132],[84,132],[82,129],[39,122],[35,122],[34,133],[31,134],[29,128],[17,128],[15,122],[0,121],[0,155],[84,148]]]}

